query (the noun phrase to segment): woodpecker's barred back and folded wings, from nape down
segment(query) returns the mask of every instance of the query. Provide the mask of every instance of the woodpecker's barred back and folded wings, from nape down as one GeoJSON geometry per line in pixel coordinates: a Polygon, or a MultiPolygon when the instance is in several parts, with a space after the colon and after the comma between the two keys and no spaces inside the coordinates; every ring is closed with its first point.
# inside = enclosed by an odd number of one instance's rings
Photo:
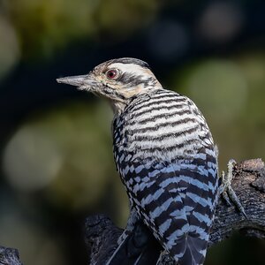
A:
{"type": "Polygon", "coordinates": [[[114,119],[114,156],[131,203],[180,264],[204,261],[217,191],[216,153],[195,104],[156,89],[114,119]]]}

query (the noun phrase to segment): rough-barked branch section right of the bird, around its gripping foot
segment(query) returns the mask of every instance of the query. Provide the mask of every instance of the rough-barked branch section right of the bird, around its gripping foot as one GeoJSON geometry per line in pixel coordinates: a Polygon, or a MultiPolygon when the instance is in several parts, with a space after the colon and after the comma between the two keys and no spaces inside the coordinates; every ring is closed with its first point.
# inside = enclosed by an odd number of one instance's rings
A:
{"type": "Polygon", "coordinates": [[[232,188],[245,208],[247,219],[221,199],[211,229],[209,246],[240,231],[265,239],[265,168],[261,159],[247,160],[235,166],[232,188]]]}

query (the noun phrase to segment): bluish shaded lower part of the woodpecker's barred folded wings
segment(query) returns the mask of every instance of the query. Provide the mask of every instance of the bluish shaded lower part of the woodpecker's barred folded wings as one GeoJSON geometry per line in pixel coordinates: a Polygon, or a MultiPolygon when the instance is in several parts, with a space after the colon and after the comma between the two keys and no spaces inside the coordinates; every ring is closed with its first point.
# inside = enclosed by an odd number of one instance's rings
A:
{"type": "Polygon", "coordinates": [[[214,148],[191,162],[128,162],[125,178],[135,208],[154,236],[181,264],[201,264],[216,198],[214,148]]]}

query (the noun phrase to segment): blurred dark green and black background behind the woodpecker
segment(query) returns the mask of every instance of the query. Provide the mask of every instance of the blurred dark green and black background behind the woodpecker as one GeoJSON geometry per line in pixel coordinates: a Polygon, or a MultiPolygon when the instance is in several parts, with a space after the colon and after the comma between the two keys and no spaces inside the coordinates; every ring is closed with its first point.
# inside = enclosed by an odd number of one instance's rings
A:
{"type": "MultiPolygon", "coordinates": [[[[264,48],[264,1],[0,0],[0,245],[26,265],[81,265],[86,216],[125,225],[111,110],[56,78],[147,61],[201,108],[225,169],[264,159],[264,48]]],[[[206,264],[264,264],[264,253],[264,241],[235,234],[206,264]]]]}

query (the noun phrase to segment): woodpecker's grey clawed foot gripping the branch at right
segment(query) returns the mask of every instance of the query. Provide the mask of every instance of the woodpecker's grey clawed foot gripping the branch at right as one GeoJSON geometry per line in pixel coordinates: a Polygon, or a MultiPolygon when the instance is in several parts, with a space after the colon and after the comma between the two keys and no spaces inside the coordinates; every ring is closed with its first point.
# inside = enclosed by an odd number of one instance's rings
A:
{"type": "Polygon", "coordinates": [[[233,168],[235,164],[236,161],[231,159],[227,164],[227,172],[225,173],[224,171],[222,171],[222,183],[219,187],[219,194],[222,194],[224,201],[226,201],[229,206],[233,204],[236,208],[239,209],[239,212],[241,212],[247,218],[244,207],[239,201],[237,194],[233,191],[231,187],[231,180],[233,178],[233,168]]]}

